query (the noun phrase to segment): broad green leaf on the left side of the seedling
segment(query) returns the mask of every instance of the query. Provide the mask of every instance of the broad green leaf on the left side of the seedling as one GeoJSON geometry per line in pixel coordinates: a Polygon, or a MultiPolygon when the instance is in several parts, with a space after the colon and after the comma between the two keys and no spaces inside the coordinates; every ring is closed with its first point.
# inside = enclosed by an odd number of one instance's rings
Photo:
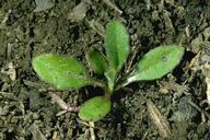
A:
{"type": "Polygon", "coordinates": [[[32,65],[43,81],[58,89],[81,88],[91,82],[85,68],[71,57],[45,54],[34,58],[32,65]]]}

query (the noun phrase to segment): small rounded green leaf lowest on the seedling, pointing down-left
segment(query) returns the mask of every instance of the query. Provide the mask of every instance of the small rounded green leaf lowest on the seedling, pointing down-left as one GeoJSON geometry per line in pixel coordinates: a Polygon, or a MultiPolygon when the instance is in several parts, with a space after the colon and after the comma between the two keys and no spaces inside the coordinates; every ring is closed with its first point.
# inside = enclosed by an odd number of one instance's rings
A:
{"type": "Polygon", "coordinates": [[[79,117],[88,121],[97,121],[110,112],[112,103],[105,96],[96,96],[86,101],[79,110],[79,117]]]}

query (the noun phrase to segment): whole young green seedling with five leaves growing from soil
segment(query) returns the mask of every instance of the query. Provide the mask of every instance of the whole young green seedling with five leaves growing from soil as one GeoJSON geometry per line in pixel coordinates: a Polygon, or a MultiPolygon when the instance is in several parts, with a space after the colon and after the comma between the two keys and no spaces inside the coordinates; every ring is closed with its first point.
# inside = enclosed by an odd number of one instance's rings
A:
{"type": "Polygon", "coordinates": [[[120,22],[112,21],[105,34],[105,52],[91,48],[86,54],[90,68],[96,74],[103,74],[103,81],[91,78],[85,67],[72,57],[45,54],[34,58],[32,63],[38,77],[57,89],[85,85],[104,89],[104,96],[86,101],[79,109],[81,119],[97,121],[109,113],[110,97],[117,90],[132,82],[162,78],[179,63],[184,48],[176,45],[156,47],[145,54],[132,71],[119,77],[129,55],[129,35],[120,22]]]}

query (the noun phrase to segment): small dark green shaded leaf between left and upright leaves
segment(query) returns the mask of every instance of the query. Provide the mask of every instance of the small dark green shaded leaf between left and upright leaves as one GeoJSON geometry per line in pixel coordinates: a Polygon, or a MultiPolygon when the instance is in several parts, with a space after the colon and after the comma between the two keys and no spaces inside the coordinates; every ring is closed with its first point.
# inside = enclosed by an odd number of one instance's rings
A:
{"type": "Polygon", "coordinates": [[[86,54],[86,60],[95,73],[103,74],[106,71],[107,62],[98,50],[90,49],[86,54]]]}

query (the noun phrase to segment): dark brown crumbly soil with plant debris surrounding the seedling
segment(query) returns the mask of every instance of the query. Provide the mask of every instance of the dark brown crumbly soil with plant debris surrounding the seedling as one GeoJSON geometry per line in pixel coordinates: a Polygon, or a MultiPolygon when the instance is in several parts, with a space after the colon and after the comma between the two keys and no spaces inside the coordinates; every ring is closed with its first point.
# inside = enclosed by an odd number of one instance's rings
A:
{"type": "Polygon", "coordinates": [[[210,140],[209,0],[51,2],[36,11],[38,0],[0,0],[0,140],[210,140]],[[125,68],[160,45],[180,45],[185,55],[164,78],[118,91],[112,112],[92,127],[77,113],[63,112],[48,93],[81,105],[103,91],[49,88],[31,62],[51,52],[88,66],[84,56],[90,48],[104,51],[112,20],[122,22],[130,35],[125,68]]]}

